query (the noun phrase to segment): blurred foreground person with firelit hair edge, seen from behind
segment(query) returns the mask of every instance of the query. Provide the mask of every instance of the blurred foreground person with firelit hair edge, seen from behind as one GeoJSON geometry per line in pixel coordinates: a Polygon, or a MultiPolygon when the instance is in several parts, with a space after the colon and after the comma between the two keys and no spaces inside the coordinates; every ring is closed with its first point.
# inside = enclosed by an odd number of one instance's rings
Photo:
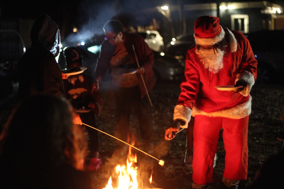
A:
{"type": "Polygon", "coordinates": [[[73,118],[71,105],[54,95],[18,104],[0,136],[1,188],[90,188],[80,171],[87,143],[73,118]]]}

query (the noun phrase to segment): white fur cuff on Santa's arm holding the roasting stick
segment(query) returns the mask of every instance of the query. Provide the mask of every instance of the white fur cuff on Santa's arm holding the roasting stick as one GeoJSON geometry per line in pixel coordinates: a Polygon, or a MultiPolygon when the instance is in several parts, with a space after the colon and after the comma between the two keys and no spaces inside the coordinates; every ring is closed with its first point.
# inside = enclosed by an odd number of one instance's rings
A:
{"type": "Polygon", "coordinates": [[[190,121],[192,110],[188,106],[176,105],[174,107],[174,121],[181,119],[185,122],[185,125],[181,125],[181,128],[188,128],[188,122],[190,121]]]}

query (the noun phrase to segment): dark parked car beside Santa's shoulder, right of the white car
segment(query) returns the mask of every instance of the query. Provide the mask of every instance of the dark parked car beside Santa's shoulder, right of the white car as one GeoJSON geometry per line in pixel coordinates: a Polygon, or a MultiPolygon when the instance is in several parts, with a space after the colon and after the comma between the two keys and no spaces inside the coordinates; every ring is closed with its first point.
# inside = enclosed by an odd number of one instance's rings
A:
{"type": "Polygon", "coordinates": [[[195,44],[192,34],[182,34],[166,45],[166,52],[177,59],[185,59],[188,49],[195,44]]]}

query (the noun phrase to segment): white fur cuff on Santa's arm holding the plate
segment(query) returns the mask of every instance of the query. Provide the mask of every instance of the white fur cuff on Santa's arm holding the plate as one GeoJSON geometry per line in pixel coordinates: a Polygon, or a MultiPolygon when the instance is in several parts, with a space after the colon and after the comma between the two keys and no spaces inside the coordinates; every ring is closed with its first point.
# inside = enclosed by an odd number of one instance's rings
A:
{"type": "Polygon", "coordinates": [[[239,80],[244,81],[247,84],[247,86],[244,86],[244,90],[240,91],[240,94],[242,94],[243,96],[249,95],[251,92],[251,88],[254,85],[254,75],[251,74],[251,72],[243,71],[237,74],[235,84],[239,80]]]}

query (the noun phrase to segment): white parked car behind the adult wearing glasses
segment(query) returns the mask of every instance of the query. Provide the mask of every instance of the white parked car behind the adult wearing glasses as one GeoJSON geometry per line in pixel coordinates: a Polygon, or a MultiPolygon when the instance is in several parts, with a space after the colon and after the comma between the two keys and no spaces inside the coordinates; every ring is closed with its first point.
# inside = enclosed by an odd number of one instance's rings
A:
{"type": "Polygon", "coordinates": [[[148,44],[150,49],[162,52],[164,51],[164,41],[163,37],[160,35],[160,33],[156,30],[147,30],[144,32],[135,32],[136,34],[143,37],[145,42],[148,44]]]}

